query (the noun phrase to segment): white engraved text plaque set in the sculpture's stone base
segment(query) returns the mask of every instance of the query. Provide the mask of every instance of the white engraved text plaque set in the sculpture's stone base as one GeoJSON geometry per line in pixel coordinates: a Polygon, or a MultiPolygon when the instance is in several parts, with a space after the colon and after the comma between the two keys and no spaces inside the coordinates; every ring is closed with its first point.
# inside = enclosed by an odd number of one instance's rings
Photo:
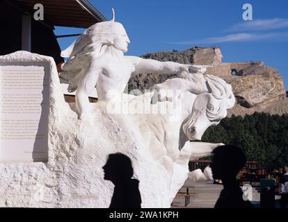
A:
{"type": "Polygon", "coordinates": [[[0,161],[47,161],[49,62],[0,62],[0,161]]]}

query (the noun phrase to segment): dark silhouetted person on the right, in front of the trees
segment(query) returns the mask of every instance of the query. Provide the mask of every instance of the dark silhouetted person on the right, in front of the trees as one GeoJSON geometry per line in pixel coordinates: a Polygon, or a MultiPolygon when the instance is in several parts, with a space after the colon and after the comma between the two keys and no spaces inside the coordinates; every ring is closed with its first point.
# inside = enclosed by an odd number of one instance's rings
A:
{"type": "Polygon", "coordinates": [[[243,200],[243,191],[236,176],[246,164],[246,155],[237,146],[225,145],[214,149],[211,169],[213,178],[222,180],[223,190],[215,208],[251,208],[249,200],[243,200]]]}

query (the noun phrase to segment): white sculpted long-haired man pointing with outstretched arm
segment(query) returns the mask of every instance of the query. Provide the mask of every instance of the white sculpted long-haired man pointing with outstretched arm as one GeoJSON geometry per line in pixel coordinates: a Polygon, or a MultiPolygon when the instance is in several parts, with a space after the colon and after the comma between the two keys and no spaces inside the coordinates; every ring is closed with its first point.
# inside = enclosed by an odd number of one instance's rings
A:
{"type": "Polygon", "coordinates": [[[68,80],[69,92],[76,92],[79,118],[90,114],[88,95],[94,87],[99,101],[109,101],[109,91],[122,94],[131,75],[143,73],[175,74],[188,71],[191,65],[159,62],[136,56],[124,56],[129,37],[122,24],[100,22],[90,26],[61,56],[68,58],[61,77],[68,80]]]}

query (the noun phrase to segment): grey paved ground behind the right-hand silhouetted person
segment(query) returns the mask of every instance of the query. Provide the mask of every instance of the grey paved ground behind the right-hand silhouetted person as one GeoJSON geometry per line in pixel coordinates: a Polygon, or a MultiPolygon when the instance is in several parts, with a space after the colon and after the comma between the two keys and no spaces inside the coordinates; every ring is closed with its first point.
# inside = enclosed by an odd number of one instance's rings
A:
{"type": "MultiPolygon", "coordinates": [[[[223,185],[215,185],[213,182],[193,182],[186,180],[184,186],[195,186],[195,189],[189,189],[190,192],[195,192],[195,196],[190,198],[190,203],[186,207],[184,206],[184,197],[176,197],[173,200],[172,207],[184,207],[184,208],[213,208],[223,185]]],[[[181,191],[185,192],[185,189],[181,191]]],[[[259,207],[260,194],[255,188],[253,188],[253,199],[251,203],[255,207],[259,207]]]]}

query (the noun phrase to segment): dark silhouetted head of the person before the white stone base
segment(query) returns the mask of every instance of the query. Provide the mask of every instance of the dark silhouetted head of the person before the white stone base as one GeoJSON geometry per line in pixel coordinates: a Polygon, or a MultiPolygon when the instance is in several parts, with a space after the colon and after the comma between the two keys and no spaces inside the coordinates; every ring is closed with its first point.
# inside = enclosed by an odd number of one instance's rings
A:
{"type": "Polygon", "coordinates": [[[110,154],[103,169],[104,180],[111,180],[114,184],[129,180],[134,174],[130,158],[122,153],[110,154]]]}

